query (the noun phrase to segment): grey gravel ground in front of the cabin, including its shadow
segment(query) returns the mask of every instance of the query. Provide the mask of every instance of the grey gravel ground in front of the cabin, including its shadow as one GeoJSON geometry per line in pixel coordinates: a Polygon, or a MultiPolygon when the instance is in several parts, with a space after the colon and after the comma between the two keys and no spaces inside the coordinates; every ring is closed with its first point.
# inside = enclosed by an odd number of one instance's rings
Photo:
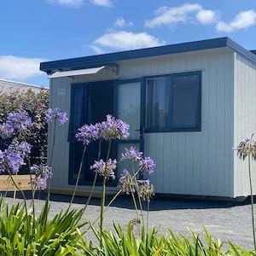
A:
{"type": "MultiPolygon", "coordinates": [[[[67,209],[70,199],[70,196],[51,195],[50,218],[61,209],[67,209]]],[[[7,200],[12,201],[11,195],[8,195],[7,200]]],[[[73,208],[84,207],[85,201],[85,198],[75,198],[73,208]]],[[[43,204],[44,200],[38,202],[38,212],[43,204]]],[[[170,228],[173,232],[181,232],[184,235],[189,235],[188,228],[201,234],[204,226],[213,237],[232,241],[249,249],[253,247],[250,211],[248,200],[238,203],[155,198],[151,201],[149,222],[150,226],[162,232],[170,228]]],[[[100,199],[92,199],[84,213],[84,220],[94,221],[99,214],[100,199]]],[[[121,196],[106,211],[104,226],[111,229],[114,221],[125,227],[132,218],[136,218],[136,212],[131,198],[121,196]]],[[[91,235],[89,237],[92,238],[91,235]]]]}

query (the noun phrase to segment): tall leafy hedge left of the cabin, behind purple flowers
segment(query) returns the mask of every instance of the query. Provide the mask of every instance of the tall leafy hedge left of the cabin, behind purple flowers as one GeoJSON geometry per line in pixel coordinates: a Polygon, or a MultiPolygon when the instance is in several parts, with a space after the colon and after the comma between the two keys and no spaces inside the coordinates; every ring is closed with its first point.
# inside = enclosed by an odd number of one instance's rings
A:
{"type": "MultiPolygon", "coordinates": [[[[15,113],[18,110],[26,112],[32,119],[33,126],[27,130],[26,141],[32,145],[32,164],[38,164],[47,156],[47,130],[48,125],[45,122],[45,113],[49,108],[49,92],[41,90],[34,92],[14,91],[0,92],[0,124],[3,124],[9,113],[15,113]]],[[[15,133],[8,139],[0,138],[0,149],[4,150],[14,140],[23,141],[21,133],[15,133]]],[[[23,168],[24,169],[24,168],[23,168]]],[[[20,170],[24,172],[24,170],[20,170]]],[[[26,172],[28,172],[26,170],[26,172]]]]}

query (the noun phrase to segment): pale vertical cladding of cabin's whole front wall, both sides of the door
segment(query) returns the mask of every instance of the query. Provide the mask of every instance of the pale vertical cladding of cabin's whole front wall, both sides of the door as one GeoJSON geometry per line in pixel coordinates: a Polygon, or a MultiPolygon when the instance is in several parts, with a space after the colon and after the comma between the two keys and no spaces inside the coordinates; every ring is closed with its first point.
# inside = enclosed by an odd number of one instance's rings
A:
{"type": "MultiPolygon", "coordinates": [[[[145,133],[145,155],[156,164],[150,179],[157,193],[233,197],[233,63],[229,49],[119,61],[119,77],[103,70],[73,81],[52,79],[51,104],[69,114],[72,83],[200,70],[201,131],[145,133]],[[61,88],[65,96],[58,96],[61,88]]],[[[52,182],[56,188],[69,187],[67,130],[68,124],[57,126],[52,182]]]]}

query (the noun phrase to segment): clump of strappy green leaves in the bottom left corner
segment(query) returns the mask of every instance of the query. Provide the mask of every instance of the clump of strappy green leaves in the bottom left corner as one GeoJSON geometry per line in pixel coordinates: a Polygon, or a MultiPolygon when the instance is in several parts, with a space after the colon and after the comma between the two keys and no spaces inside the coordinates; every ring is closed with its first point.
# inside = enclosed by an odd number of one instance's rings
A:
{"type": "Polygon", "coordinates": [[[0,198],[0,255],[79,255],[83,211],[59,212],[51,220],[49,201],[32,229],[32,212],[20,204],[9,207],[0,198]]]}

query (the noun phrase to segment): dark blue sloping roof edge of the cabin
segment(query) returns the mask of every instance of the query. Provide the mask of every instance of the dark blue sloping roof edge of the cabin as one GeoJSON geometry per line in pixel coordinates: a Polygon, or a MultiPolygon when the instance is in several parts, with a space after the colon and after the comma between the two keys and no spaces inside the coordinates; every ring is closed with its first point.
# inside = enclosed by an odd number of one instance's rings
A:
{"type": "Polygon", "coordinates": [[[230,48],[240,53],[241,55],[244,55],[245,57],[247,57],[247,59],[253,61],[256,64],[256,55],[253,55],[253,52],[243,48],[240,44],[237,44],[235,41],[226,37],[213,38],[183,44],[170,44],[145,49],[132,49],[104,55],[90,55],[60,61],[47,61],[40,63],[40,70],[51,74],[55,71],[98,67],[99,65],[112,65],[116,61],[133,60],[159,55],[178,54],[202,49],[218,49],[224,47],[230,48]]]}

